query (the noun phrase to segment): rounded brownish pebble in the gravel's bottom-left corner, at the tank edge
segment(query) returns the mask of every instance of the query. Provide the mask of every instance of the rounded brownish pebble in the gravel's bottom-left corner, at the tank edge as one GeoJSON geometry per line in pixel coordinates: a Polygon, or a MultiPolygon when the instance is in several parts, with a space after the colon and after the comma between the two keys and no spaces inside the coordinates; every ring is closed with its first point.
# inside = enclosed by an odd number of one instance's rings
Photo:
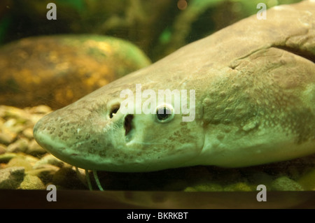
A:
{"type": "Polygon", "coordinates": [[[0,189],[17,189],[24,179],[24,167],[8,167],[0,170],[0,189]]]}

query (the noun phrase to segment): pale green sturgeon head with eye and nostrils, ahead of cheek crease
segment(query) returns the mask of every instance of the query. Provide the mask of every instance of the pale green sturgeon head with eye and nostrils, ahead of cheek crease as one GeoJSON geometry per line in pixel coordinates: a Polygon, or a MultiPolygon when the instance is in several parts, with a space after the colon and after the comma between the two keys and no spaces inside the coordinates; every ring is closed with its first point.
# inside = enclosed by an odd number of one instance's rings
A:
{"type": "Polygon", "coordinates": [[[133,79],[111,82],[46,115],[36,123],[34,138],[55,157],[90,170],[146,172],[193,163],[204,143],[193,94],[186,100],[179,89],[169,101],[159,101],[162,85],[143,83],[147,95],[139,98],[133,79]],[[193,115],[181,113],[181,96],[193,115]]]}

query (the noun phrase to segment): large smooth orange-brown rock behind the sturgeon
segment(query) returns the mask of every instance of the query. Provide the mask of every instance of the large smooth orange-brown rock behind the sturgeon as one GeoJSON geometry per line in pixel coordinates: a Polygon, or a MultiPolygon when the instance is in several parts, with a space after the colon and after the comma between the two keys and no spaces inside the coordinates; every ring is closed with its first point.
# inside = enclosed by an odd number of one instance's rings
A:
{"type": "Polygon", "coordinates": [[[98,35],[24,38],[0,48],[0,61],[0,104],[54,109],[151,63],[132,43],[98,35]]]}

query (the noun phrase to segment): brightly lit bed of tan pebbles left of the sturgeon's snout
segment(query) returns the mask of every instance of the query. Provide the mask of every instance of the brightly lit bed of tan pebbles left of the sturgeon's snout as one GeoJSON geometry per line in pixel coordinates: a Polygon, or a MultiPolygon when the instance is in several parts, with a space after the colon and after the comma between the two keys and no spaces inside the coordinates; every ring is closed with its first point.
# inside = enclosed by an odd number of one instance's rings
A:
{"type": "Polygon", "coordinates": [[[45,189],[65,165],[33,137],[34,124],[52,110],[48,106],[0,106],[0,189],[45,189]]]}

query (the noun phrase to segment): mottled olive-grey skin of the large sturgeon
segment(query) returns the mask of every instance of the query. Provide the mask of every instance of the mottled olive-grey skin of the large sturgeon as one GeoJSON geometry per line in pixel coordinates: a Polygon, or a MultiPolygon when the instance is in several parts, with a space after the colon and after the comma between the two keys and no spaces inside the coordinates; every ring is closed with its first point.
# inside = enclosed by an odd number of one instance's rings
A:
{"type": "Polygon", "coordinates": [[[267,20],[241,20],[46,115],[34,137],[69,164],[103,171],[301,157],[315,152],[314,60],[315,1],[276,6],[267,20]],[[195,89],[195,120],[116,111],[120,92],[136,84],[195,89]]]}

